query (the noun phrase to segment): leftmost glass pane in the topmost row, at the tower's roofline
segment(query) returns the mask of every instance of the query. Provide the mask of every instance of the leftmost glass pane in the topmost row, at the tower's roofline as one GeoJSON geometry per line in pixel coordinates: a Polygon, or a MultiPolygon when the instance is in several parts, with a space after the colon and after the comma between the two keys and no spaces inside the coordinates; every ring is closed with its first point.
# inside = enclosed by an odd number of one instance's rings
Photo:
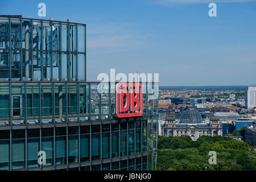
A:
{"type": "Polygon", "coordinates": [[[7,49],[10,47],[10,38],[9,38],[9,18],[0,18],[0,48],[7,49]]]}

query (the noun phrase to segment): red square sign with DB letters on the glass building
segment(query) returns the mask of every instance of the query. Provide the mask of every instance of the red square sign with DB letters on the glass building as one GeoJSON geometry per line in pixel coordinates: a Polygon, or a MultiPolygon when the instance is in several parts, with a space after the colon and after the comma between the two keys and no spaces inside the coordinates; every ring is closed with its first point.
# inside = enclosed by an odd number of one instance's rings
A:
{"type": "Polygon", "coordinates": [[[136,117],[143,114],[143,91],[139,83],[119,83],[116,86],[117,117],[136,117]]]}

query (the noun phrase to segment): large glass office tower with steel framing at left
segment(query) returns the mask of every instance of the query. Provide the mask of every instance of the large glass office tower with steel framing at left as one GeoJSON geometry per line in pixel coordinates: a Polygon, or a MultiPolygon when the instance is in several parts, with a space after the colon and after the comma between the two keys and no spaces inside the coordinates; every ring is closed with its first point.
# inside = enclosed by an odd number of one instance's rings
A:
{"type": "Polygon", "coordinates": [[[155,170],[158,84],[142,83],[143,115],[130,118],[98,84],[85,24],[0,16],[0,170],[155,170]]]}

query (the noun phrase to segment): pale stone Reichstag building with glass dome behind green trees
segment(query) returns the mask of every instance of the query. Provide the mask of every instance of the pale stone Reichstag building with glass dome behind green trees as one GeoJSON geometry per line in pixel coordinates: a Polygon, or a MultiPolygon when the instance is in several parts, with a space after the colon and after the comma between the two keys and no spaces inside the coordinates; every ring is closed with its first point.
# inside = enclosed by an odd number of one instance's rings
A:
{"type": "Polygon", "coordinates": [[[205,123],[199,111],[195,109],[185,110],[180,121],[175,120],[174,114],[166,115],[166,121],[162,126],[163,137],[180,137],[188,135],[192,140],[197,140],[203,135],[222,136],[222,124],[219,119],[208,116],[209,122],[205,123]]]}

